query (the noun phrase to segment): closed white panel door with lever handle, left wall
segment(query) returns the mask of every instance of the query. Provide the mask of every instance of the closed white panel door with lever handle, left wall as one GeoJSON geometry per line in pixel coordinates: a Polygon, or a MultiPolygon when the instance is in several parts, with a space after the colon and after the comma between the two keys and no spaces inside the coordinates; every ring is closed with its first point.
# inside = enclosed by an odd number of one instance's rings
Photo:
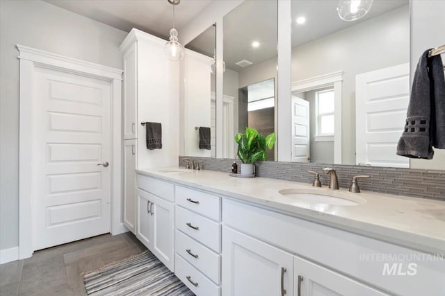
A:
{"type": "MultiPolygon", "coordinates": [[[[111,84],[36,68],[33,250],[110,231],[111,84]]],[[[113,165],[113,164],[111,164],[113,165]]]]}

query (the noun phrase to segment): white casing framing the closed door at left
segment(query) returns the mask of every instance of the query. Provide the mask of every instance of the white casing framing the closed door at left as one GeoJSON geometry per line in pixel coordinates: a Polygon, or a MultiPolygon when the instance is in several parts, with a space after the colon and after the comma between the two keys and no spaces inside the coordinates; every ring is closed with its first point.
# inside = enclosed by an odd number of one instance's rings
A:
{"type": "MultiPolygon", "coordinates": [[[[122,197],[122,70],[85,62],[17,44],[20,60],[19,86],[19,246],[18,259],[33,254],[33,135],[35,120],[33,80],[35,68],[56,69],[111,83],[111,234],[126,232],[121,221],[122,197]]],[[[7,254],[15,251],[9,251],[7,254]]],[[[3,250],[2,250],[3,252],[3,250]]]]}

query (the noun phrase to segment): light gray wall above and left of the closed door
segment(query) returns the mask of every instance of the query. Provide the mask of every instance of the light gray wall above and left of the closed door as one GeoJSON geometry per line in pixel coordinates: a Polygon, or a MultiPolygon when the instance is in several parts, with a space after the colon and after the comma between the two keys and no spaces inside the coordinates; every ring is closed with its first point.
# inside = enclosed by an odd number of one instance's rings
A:
{"type": "Polygon", "coordinates": [[[122,69],[127,33],[44,1],[0,1],[0,250],[18,245],[19,60],[22,44],[122,69]]]}

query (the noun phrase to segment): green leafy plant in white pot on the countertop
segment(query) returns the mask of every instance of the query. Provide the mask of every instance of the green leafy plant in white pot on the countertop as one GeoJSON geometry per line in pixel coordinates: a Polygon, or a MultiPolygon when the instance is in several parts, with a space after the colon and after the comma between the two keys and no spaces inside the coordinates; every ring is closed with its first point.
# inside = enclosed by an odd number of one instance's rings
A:
{"type": "Polygon", "coordinates": [[[264,137],[254,128],[245,128],[245,132],[236,134],[238,144],[238,157],[241,159],[241,174],[253,175],[254,162],[266,160],[266,148],[272,150],[275,144],[275,132],[264,137]]]}

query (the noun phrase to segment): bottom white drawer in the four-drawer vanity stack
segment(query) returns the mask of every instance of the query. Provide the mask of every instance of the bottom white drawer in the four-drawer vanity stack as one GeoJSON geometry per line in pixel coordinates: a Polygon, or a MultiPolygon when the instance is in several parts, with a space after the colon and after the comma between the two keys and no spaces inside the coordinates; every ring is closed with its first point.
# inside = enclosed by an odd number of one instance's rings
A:
{"type": "Polygon", "coordinates": [[[175,255],[175,275],[197,296],[219,296],[220,287],[201,272],[184,260],[178,254],[175,255]]]}

